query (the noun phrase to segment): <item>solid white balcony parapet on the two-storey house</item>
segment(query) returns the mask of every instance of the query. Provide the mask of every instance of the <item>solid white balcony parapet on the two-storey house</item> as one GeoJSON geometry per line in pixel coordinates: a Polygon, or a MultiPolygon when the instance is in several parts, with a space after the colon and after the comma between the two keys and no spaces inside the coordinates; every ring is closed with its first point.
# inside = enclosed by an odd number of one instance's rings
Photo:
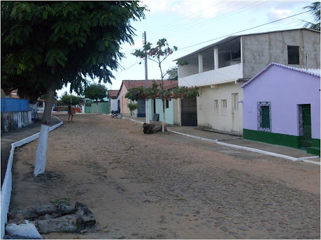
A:
{"type": "Polygon", "coordinates": [[[236,80],[243,78],[243,65],[238,63],[235,65],[227,66],[224,68],[217,68],[215,70],[209,70],[204,73],[197,73],[187,77],[178,76],[179,87],[191,87],[191,86],[208,86],[214,84],[223,84],[227,82],[235,82],[236,80]]]}

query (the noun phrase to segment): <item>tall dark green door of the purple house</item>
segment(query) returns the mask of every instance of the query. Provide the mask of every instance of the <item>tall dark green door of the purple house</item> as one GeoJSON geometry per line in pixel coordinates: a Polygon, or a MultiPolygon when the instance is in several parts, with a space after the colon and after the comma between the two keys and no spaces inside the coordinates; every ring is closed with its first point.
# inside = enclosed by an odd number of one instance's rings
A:
{"type": "Polygon", "coordinates": [[[311,105],[299,105],[300,147],[311,147],[311,105]]]}

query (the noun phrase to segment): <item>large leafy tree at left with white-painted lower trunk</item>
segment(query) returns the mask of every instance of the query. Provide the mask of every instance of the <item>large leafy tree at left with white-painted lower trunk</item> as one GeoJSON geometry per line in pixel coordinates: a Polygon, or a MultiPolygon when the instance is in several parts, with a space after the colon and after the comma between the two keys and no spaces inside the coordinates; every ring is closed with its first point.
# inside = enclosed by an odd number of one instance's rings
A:
{"type": "Polygon", "coordinates": [[[144,10],[138,1],[1,1],[1,84],[20,75],[45,89],[34,176],[45,171],[55,90],[70,83],[81,95],[86,77],[110,82],[144,10]]]}

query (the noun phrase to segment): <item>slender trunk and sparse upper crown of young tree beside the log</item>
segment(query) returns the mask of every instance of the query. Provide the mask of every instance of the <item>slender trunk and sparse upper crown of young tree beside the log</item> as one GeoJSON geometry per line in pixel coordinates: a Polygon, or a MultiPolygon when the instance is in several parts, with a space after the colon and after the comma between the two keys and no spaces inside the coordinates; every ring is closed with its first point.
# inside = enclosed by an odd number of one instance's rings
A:
{"type": "MultiPolygon", "coordinates": [[[[165,98],[164,98],[164,76],[168,74],[168,72],[162,70],[162,62],[169,57],[174,51],[177,51],[178,47],[174,46],[173,48],[169,47],[169,43],[167,43],[166,38],[159,39],[157,41],[157,46],[152,47],[152,43],[146,43],[143,45],[143,50],[136,50],[133,55],[135,57],[144,58],[146,55],[148,59],[155,61],[158,64],[161,78],[162,78],[162,93],[160,98],[162,99],[163,103],[163,123],[162,123],[162,132],[164,133],[165,130],[165,98]]],[[[147,114],[147,113],[146,113],[147,114]]]]}

